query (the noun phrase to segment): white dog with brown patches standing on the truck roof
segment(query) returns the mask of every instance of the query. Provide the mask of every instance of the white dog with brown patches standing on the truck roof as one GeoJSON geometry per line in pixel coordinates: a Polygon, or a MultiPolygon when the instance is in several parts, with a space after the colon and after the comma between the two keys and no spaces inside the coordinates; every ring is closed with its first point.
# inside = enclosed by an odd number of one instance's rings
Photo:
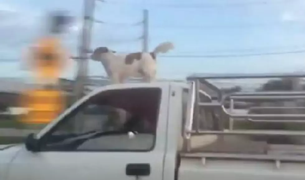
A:
{"type": "Polygon", "coordinates": [[[127,78],[143,78],[152,82],[156,78],[159,53],[167,53],[174,49],[171,42],[159,44],[152,52],[135,52],[130,54],[115,54],[116,51],[107,47],[98,47],[93,51],[91,59],[100,61],[112,83],[124,83],[127,78]]]}

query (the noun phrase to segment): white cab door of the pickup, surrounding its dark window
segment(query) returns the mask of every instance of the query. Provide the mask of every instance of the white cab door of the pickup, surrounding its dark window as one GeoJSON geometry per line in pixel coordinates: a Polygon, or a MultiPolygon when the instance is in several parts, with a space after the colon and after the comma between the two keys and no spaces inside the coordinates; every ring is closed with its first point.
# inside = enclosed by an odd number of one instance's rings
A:
{"type": "MultiPolygon", "coordinates": [[[[119,85],[122,86],[122,85],[119,85]]],[[[126,175],[126,166],[133,163],[148,163],[150,164],[151,172],[148,176],[143,179],[162,179],[163,175],[163,164],[165,157],[165,144],[167,129],[167,118],[168,118],[168,102],[169,102],[169,84],[147,84],[138,85],[129,88],[143,88],[153,87],[160,88],[162,90],[159,115],[158,115],[158,127],[154,148],[149,151],[79,151],[64,152],[64,151],[45,151],[45,152],[31,152],[28,151],[24,146],[21,148],[17,157],[10,163],[8,180],[16,179],[40,179],[40,180],[51,180],[51,179],[134,179],[134,176],[126,175]],[[22,169],[22,170],[21,170],[22,169]]],[[[91,93],[88,97],[94,97],[99,93],[112,90],[112,88],[103,88],[102,90],[91,93]]],[[[116,89],[116,88],[114,88],[116,89]]],[[[73,107],[67,110],[65,114],[71,113],[78,106],[88,100],[88,97],[83,98],[80,103],[76,103],[73,107]]],[[[62,116],[61,116],[62,117],[62,116]]],[[[62,117],[64,118],[64,117],[62,117]]],[[[48,130],[60,122],[55,120],[49,126],[47,126],[38,137],[45,135],[48,130]]],[[[82,144],[87,148],[92,144],[103,143],[107,145],[111,142],[117,142],[118,144],[128,143],[131,144],[131,140],[124,139],[125,135],[112,135],[102,136],[98,139],[89,140],[82,144]]],[[[136,139],[142,141],[142,145],[145,146],[147,139],[145,135],[136,135],[136,139]],[[141,140],[141,138],[144,138],[141,140]]],[[[119,145],[117,146],[119,147],[119,145]]],[[[139,146],[137,146],[139,147],[139,146]]],[[[132,147],[131,147],[132,148],[132,147]]]]}

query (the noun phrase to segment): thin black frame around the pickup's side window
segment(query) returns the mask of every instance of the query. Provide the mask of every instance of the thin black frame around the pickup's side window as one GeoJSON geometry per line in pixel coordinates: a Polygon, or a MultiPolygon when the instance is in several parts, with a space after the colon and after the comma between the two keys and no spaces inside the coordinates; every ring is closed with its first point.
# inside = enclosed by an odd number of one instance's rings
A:
{"type": "Polygon", "coordinates": [[[40,149],[39,152],[150,152],[153,151],[155,149],[156,146],[156,138],[157,138],[157,128],[158,128],[158,124],[159,124],[159,115],[160,115],[160,107],[161,107],[161,103],[162,103],[162,88],[160,87],[135,87],[135,88],[127,88],[127,89],[108,89],[102,92],[99,92],[91,97],[89,97],[85,102],[83,102],[82,104],[80,104],[79,106],[75,107],[72,111],[70,111],[70,113],[66,114],[58,123],[56,123],[53,127],[51,127],[43,136],[41,136],[41,138],[39,139],[40,144],[44,145],[46,144],[46,139],[48,139],[48,137],[50,137],[57,129],[59,126],[61,126],[63,123],[65,123],[66,121],[69,121],[70,118],[73,118],[81,109],[83,109],[84,107],[88,106],[88,104],[92,103],[92,99],[94,97],[100,96],[101,93],[105,93],[105,92],[109,92],[109,91],[117,91],[117,90],[132,90],[132,89],[155,89],[157,91],[159,91],[159,99],[158,99],[158,108],[157,108],[157,119],[156,119],[156,129],[154,131],[154,139],[153,139],[153,144],[151,145],[151,147],[149,149],[111,149],[111,150],[103,150],[103,149],[99,149],[99,150],[94,150],[94,149],[75,149],[72,151],[62,151],[62,150],[56,150],[56,149],[40,149]]]}

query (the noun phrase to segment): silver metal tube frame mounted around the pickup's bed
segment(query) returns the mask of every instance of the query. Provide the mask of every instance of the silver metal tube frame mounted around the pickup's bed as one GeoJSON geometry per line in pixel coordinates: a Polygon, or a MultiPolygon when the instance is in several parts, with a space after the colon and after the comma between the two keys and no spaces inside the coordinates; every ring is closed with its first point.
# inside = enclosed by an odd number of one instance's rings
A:
{"type": "MultiPolygon", "coordinates": [[[[188,80],[193,81],[195,84],[197,83],[203,83],[206,81],[206,79],[219,79],[219,78],[225,78],[225,79],[241,79],[241,78],[284,78],[284,77],[298,77],[298,78],[304,78],[305,73],[298,74],[231,74],[231,75],[197,75],[197,76],[191,76],[188,77],[188,80]]],[[[198,85],[196,86],[196,90],[198,85]]],[[[253,122],[298,122],[298,123],[305,123],[305,114],[233,114],[234,110],[234,100],[235,99],[251,99],[251,100],[283,100],[283,99],[305,99],[305,91],[302,92],[256,92],[256,93],[232,93],[225,96],[222,96],[221,101],[219,102],[199,102],[198,101],[198,94],[196,94],[196,100],[194,103],[196,107],[213,107],[213,108],[221,108],[222,115],[226,115],[229,117],[229,130],[222,130],[222,131],[214,131],[214,130],[190,130],[185,128],[184,133],[185,135],[205,135],[205,134],[215,134],[215,135],[287,135],[287,136],[305,136],[305,131],[292,131],[292,130],[233,130],[233,121],[234,118],[246,118],[247,121],[253,121],[253,122]],[[224,108],[224,102],[225,99],[230,99],[230,108],[229,112],[224,108]],[[263,120],[263,118],[274,118],[274,120],[263,120]],[[276,120],[277,118],[302,118],[297,120],[276,120]],[[254,120],[251,118],[259,118],[258,120],[254,120]]],[[[285,107],[283,107],[285,108],[285,107]]],[[[299,108],[299,107],[292,107],[292,109],[299,108]]],[[[303,108],[305,109],[305,108],[303,108]]],[[[222,116],[221,115],[221,116],[222,116]]],[[[199,121],[199,119],[195,119],[196,121],[199,121]]],[[[190,119],[187,119],[188,125],[191,127],[191,124],[189,124],[191,121],[190,119]]],[[[191,122],[193,123],[193,122],[191,122]]],[[[184,140],[186,140],[184,136],[184,140]]],[[[188,141],[188,147],[186,148],[186,152],[184,153],[185,156],[189,156],[189,143],[190,143],[190,137],[187,139],[188,141]]],[[[193,154],[193,153],[192,153],[193,154]]],[[[279,160],[278,158],[271,157],[270,155],[249,155],[248,154],[226,154],[226,153],[197,153],[195,156],[200,157],[214,157],[214,158],[234,158],[234,159],[270,159],[270,160],[279,160]],[[221,155],[222,157],[220,157],[221,155]],[[251,157],[250,157],[251,156],[251,157]]],[[[295,155],[289,156],[284,158],[283,160],[295,160],[295,155]]],[[[302,161],[305,161],[305,157],[302,156],[302,161]]]]}

